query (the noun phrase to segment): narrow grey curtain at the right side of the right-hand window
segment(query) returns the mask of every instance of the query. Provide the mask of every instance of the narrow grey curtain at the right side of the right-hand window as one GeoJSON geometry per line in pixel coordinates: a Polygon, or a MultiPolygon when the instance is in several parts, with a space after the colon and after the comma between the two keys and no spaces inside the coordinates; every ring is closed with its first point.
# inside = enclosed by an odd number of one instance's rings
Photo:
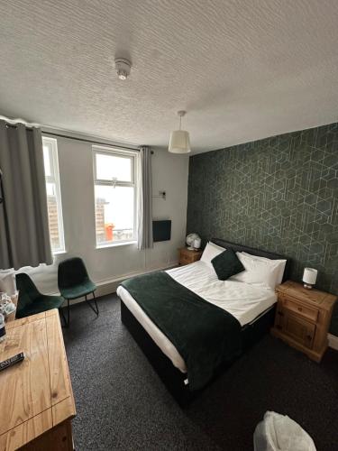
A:
{"type": "Polygon", "coordinates": [[[140,147],[139,156],[139,224],[138,249],[153,247],[152,241],[152,179],[151,179],[151,149],[140,147]]]}

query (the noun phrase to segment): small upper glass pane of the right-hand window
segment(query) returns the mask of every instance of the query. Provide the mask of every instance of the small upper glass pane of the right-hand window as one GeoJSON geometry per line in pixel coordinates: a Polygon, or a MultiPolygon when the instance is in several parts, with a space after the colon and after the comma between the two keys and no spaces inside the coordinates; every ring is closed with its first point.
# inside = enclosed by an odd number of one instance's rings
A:
{"type": "Polygon", "coordinates": [[[132,181],[132,158],[96,153],[96,179],[132,181]]]}

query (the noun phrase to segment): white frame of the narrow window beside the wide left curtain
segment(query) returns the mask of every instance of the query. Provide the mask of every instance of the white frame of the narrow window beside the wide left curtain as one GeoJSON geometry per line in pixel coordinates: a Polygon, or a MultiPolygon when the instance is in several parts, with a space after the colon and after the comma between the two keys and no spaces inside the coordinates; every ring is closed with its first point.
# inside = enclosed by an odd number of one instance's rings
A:
{"type": "MultiPolygon", "coordinates": [[[[59,249],[51,249],[51,252],[56,255],[58,253],[66,253],[65,245],[65,233],[63,227],[63,215],[62,215],[62,199],[61,199],[61,189],[59,183],[59,154],[58,154],[58,140],[55,138],[50,138],[50,136],[42,135],[42,148],[44,144],[50,145],[50,174],[47,175],[45,172],[45,183],[46,183],[46,196],[47,194],[47,183],[55,184],[55,194],[56,194],[56,204],[58,212],[58,228],[59,228],[59,249]]],[[[44,168],[44,160],[43,160],[44,168]]],[[[50,217],[48,218],[50,220],[50,217]]],[[[50,227],[50,225],[49,225],[50,227]]],[[[49,228],[50,232],[50,228],[49,228]]],[[[51,242],[50,242],[51,246],[51,242]]]]}

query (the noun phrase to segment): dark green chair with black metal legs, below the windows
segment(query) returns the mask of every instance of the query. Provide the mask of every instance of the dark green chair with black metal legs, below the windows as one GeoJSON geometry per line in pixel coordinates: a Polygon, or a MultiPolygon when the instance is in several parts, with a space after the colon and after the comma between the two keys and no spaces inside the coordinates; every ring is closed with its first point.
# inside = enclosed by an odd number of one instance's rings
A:
{"type": "Polygon", "coordinates": [[[69,258],[59,263],[58,269],[59,292],[68,303],[69,326],[69,300],[85,297],[88,306],[96,313],[98,317],[98,308],[96,304],[95,290],[96,284],[89,279],[85,263],[79,257],[69,258]],[[87,299],[88,294],[93,294],[95,308],[87,299]]]}

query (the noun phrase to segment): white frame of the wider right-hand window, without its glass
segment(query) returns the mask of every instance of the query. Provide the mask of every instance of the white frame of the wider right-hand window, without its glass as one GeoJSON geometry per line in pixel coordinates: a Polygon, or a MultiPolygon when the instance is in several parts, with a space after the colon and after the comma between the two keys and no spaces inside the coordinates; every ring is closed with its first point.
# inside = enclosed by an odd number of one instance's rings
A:
{"type": "MultiPolygon", "coordinates": [[[[111,147],[111,146],[104,146],[104,145],[93,145],[92,146],[92,152],[93,152],[93,172],[94,172],[94,207],[95,207],[95,216],[96,216],[96,194],[95,189],[96,185],[99,186],[106,186],[106,187],[112,187],[112,181],[107,179],[97,179],[96,175],[96,155],[114,155],[121,158],[128,159],[132,161],[132,173],[131,173],[131,181],[125,181],[125,180],[116,180],[114,182],[115,187],[131,187],[133,188],[133,225],[132,225],[132,232],[133,236],[132,239],[128,240],[119,240],[119,241],[106,241],[102,243],[97,242],[97,235],[96,235],[96,249],[102,249],[105,247],[114,247],[119,246],[123,244],[131,244],[131,243],[137,243],[137,180],[138,180],[138,174],[137,174],[137,158],[139,156],[139,152],[131,150],[122,150],[118,147],[111,147]]],[[[95,227],[96,228],[96,227],[95,227]]]]}

